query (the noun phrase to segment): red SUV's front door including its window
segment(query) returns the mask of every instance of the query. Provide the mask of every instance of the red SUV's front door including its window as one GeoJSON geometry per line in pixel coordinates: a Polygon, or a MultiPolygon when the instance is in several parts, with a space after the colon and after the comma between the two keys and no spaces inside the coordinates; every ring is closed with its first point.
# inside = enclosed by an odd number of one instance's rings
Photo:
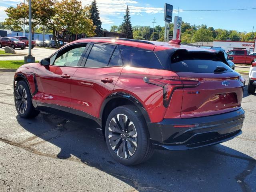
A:
{"type": "Polygon", "coordinates": [[[34,96],[40,106],[69,112],[70,83],[86,51],[86,44],[70,45],[50,58],[50,66],[40,66],[37,74],[38,93],[34,96]]]}

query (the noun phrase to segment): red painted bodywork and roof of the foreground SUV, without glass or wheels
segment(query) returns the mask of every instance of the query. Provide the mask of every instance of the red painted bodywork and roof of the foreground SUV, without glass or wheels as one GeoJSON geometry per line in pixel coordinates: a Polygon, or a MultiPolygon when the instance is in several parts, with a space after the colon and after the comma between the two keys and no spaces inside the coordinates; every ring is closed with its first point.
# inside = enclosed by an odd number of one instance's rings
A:
{"type": "MultiPolygon", "coordinates": [[[[98,42],[142,48],[155,53],[165,50],[187,50],[190,52],[214,52],[201,48],[154,42],[147,44],[121,39],[86,38],[72,42],[66,47],[79,43],[98,42]]],[[[21,66],[14,77],[24,74],[29,80],[31,90],[35,88],[36,79],[38,92],[33,95],[34,102],[55,104],[76,109],[95,118],[102,118],[101,110],[104,102],[111,94],[123,92],[133,96],[146,110],[150,122],[160,122],[165,118],[192,118],[221,114],[241,108],[244,84],[239,80],[240,74],[235,71],[228,73],[190,73],[173,72],[152,68],[116,66],[88,68],[79,66],[42,66],[38,63],[21,66]],[[144,77],[156,79],[176,79],[177,81],[196,81],[198,86],[178,88],[170,96],[168,106],[163,103],[163,88],[146,83],[144,77]],[[228,80],[226,87],[222,82],[228,80]],[[200,92],[194,94],[194,92],[200,92]]],[[[182,83],[183,84],[183,83],[182,83]]],[[[170,88],[172,85],[170,85],[170,88]]],[[[168,95],[169,96],[169,95],[168,95]]]]}

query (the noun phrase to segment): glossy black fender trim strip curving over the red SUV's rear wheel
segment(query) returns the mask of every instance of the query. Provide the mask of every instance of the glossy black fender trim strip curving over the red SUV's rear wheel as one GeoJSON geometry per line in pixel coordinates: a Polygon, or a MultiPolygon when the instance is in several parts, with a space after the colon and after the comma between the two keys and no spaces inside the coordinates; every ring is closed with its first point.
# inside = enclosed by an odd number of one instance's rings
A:
{"type": "Polygon", "coordinates": [[[146,122],[151,122],[151,120],[148,116],[148,112],[144,108],[144,106],[141,104],[141,102],[136,97],[132,96],[131,94],[125,93],[125,92],[114,92],[113,94],[110,94],[104,100],[104,102],[102,103],[101,109],[100,109],[100,119],[102,119],[104,108],[105,108],[106,104],[108,104],[108,102],[110,102],[110,100],[116,99],[116,98],[124,98],[124,99],[130,100],[132,103],[134,103],[139,108],[139,110],[141,111],[142,115],[144,116],[146,122]]]}

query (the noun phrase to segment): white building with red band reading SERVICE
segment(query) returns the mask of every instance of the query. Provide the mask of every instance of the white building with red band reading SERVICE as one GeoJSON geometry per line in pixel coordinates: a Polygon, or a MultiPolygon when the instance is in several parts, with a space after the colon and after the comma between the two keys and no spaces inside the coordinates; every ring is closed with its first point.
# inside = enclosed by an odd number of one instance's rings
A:
{"type": "Polygon", "coordinates": [[[253,41],[213,41],[214,47],[222,47],[226,52],[232,49],[246,49],[249,52],[256,51],[255,42],[253,41]]]}

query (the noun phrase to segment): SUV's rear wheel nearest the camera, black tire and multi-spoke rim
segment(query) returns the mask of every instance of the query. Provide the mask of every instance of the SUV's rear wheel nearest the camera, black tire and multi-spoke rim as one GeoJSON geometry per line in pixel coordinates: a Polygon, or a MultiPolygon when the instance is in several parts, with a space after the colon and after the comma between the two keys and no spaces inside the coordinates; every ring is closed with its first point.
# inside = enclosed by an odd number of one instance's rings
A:
{"type": "Polygon", "coordinates": [[[146,122],[136,106],[112,110],[106,121],[105,136],[110,154],[121,164],[140,164],[153,153],[146,122]]]}

